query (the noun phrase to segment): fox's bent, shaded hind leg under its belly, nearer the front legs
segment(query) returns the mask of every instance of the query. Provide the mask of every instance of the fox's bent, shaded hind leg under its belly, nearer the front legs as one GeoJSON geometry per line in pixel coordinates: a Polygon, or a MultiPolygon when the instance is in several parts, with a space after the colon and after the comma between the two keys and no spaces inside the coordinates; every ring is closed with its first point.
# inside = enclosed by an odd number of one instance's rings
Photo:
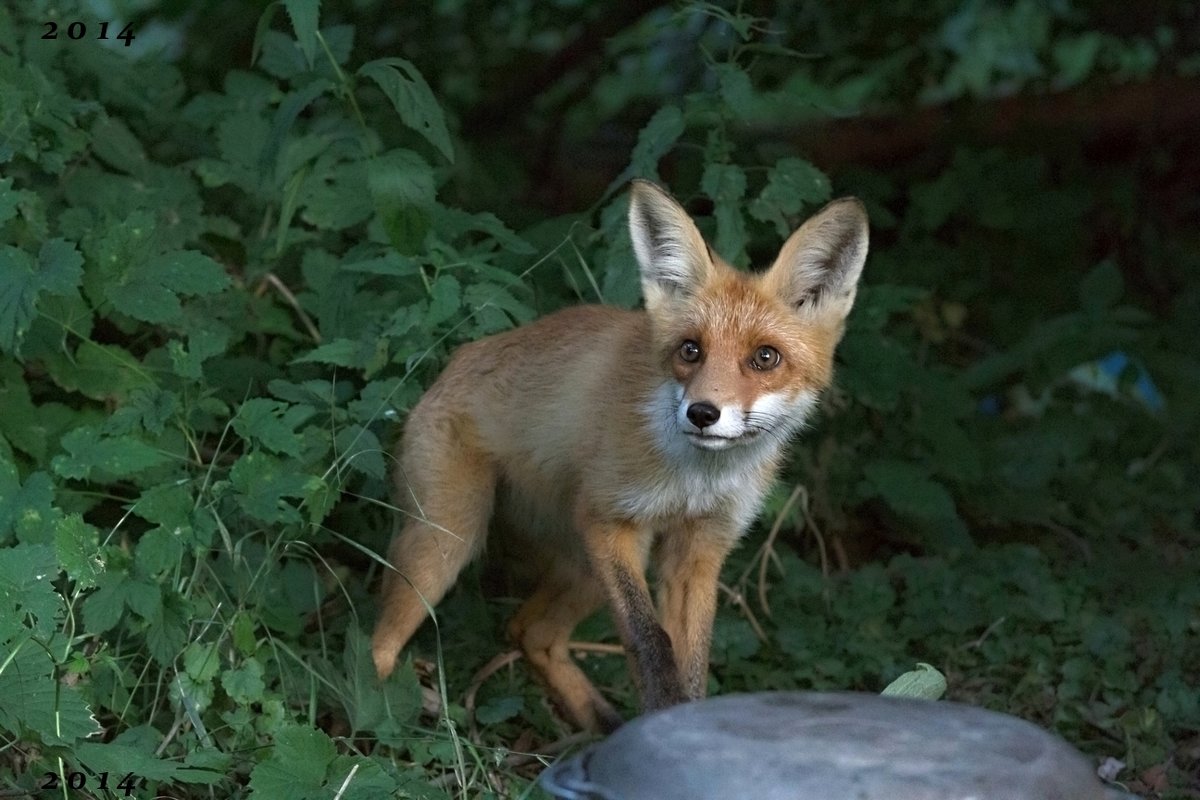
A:
{"type": "Polygon", "coordinates": [[[604,589],[587,567],[551,567],[538,590],[509,622],[509,636],[546,685],[563,715],[575,726],[605,733],[622,718],[571,658],[568,643],[575,626],[604,603],[604,589]]]}

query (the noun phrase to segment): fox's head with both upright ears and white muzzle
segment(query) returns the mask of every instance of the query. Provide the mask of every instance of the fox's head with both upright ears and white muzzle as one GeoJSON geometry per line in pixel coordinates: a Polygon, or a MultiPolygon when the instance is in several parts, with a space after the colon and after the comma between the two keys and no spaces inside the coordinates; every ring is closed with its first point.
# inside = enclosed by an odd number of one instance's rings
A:
{"type": "Polygon", "coordinates": [[[834,200],[758,273],[713,253],[654,184],[634,181],[629,229],[655,357],[670,375],[650,398],[660,443],[725,450],[786,440],[833,374],[866,260],[863,204],[834,200]]]}

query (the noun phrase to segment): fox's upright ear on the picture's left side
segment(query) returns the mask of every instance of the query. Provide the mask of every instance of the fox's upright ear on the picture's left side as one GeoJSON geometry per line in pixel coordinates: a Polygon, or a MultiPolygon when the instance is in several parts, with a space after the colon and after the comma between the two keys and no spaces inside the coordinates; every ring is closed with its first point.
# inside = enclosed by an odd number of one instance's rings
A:
{"type": "Polygon", "coordinates": [[[629,236],[642,272],[647,308],[694,294],[712,272],[708,246],[696,223],[649,181],[635,180],[630,187],[629,236]]]}

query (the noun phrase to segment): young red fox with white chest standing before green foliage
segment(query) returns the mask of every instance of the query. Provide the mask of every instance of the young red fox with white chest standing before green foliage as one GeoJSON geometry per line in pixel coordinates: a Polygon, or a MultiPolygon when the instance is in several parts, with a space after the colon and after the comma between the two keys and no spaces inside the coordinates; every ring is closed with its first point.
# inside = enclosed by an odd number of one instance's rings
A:
{"type": "Polygon", "coordinates": [[[866,212],[830,203],[757,275],[647,181],[632,184],[629,230],[646,311],[578,306],[466,344],[408,415],[380,678],[492,523],[539,576],[509,633],[571,723],[622,723],[568,651],[605,602],[643,709],[703,697],[721,564],[829,385],[866,212]]]}

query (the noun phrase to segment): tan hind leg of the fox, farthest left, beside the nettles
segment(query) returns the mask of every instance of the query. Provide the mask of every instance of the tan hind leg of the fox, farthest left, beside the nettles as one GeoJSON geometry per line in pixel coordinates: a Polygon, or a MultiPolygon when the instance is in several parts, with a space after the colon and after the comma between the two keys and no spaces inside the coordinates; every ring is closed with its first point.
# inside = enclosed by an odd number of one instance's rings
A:
{"type": "Polygon", "coordinates": [[[496,467],[469,422],[409,417],[396,500],[403,529],[388,549],[379,621],[371,638],[376,672],[386,678],[396,657],[458,572],[484,548],[496,495],[496,467]]]}

